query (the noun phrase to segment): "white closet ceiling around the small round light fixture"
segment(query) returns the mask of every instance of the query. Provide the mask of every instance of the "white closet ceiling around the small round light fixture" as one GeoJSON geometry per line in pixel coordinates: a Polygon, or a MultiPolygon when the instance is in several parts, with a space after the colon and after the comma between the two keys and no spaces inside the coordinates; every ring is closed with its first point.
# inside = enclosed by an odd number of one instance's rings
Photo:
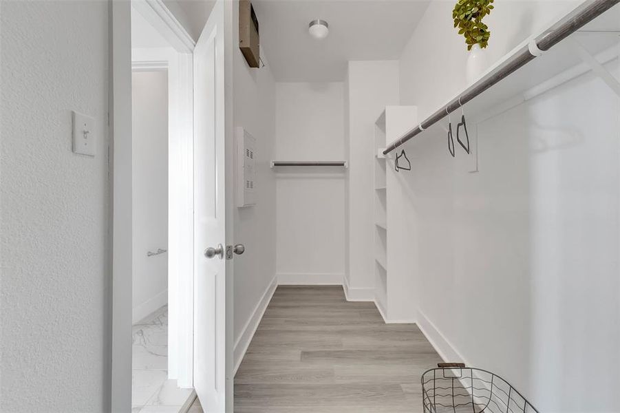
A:
{"type": "Polygon", "coordinates": [[[398,59],[428,0],[254,0],[261,47],[278,82],[343,81],[347,61],[398,59]],[[308,34],[324,19],[326,39],[308,34]]]}

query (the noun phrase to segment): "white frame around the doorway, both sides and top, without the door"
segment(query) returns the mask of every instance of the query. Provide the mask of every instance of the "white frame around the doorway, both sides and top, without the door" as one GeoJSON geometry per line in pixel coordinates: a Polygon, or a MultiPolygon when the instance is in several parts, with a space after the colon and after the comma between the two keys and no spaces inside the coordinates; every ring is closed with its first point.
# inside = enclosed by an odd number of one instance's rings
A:
{"type": "MultiPolygon", "coordinates": [[[[145,67],[165,64],[178,94],[170,94],[169,134],[169,300],[178,329],[169,337],[169,377],[182,387],[193,384],[193,78],[191,52],[195,42],[161,0],[111,1],[111,96],[110,105],[110,173],[112,222],[112,322],[111,322],[111,411],[131,410],[131,313],[132,313],[132,144],[131,144],[131,6],[174,47],[160,59],[142,54],[145,67]],[[151,60],[155,59],[155,60],[151,60]],[[173,73],[172,73],[173,72],[173,73]],[[174,95],[174,96],[173,96],[174,95]],[[188,163],[189,162],[189,163],[188,163]],[[189,176],[189,180],[188,177],[189,176]],[[187,198],[189,194],[189,199],[187,198]],[[187,236],[191,245],[184,248],[187,236]],[[170,231],[172,229],[172,231],[170,231]],[[173,248],[170,248],[173,246],[173,248]],[[172,250],[172,251],[171,251],[172,250]],[[187,257],[179,251],[189,251],[187,257]],[[185,264],[184,264],[185,263],[185,264]],[[186,277],[178,276],[186,275],[186,277]],[[183,299],[187,295],[189,299],[183,299]]],[[[140,65],[140,63],[138,63],[140,65]]],[[[173,89],[170,89],[173,90],[173,89]]]]}

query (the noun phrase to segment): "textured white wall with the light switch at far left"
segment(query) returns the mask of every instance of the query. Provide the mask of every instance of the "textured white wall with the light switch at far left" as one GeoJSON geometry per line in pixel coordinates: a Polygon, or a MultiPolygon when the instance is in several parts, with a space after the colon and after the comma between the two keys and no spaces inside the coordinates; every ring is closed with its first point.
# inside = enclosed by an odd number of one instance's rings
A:
{"type": "Polygon", "coordinates": [[[110,408],[108,23],[107,1],[1,3],[2,412],[110,408]]]}

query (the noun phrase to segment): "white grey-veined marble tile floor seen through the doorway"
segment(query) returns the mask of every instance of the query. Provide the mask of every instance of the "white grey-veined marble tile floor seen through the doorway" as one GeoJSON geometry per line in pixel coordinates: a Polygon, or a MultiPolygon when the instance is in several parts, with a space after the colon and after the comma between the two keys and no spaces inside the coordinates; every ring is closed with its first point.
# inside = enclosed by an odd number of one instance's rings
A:
{"type": "Polygon", "coordinates": [[[193,393],[168,380],[168,307],[133,325],[131,413],[178,413],[193,393]]]}

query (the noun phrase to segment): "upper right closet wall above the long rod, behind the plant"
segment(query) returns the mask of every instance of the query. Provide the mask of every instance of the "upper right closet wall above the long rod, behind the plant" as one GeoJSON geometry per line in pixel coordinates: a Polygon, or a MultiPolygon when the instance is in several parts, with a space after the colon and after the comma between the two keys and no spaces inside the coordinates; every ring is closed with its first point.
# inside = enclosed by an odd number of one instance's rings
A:
{"type": "MultiPolygon", "coordinates": [[[[502,1],[484,19],[491,30],[483,52],[489,67],[580,1],[502,1]]],[[[453,1],[431,1],[400,56],[400,104],[418,105],[424,120],[467,86],[467,45],[453,27],[453,1]]]]}

